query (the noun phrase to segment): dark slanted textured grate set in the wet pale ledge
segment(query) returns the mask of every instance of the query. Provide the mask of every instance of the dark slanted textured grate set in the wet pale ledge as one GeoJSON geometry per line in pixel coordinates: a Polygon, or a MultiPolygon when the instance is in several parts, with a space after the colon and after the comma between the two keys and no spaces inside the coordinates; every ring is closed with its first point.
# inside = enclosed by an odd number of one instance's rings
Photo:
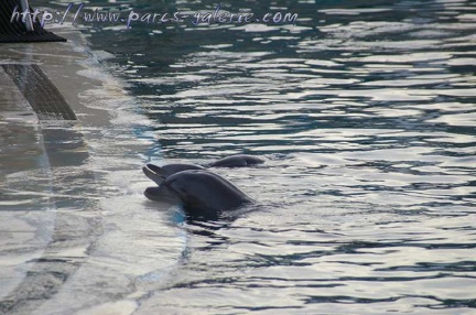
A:
{"type": "Polygon", "coordinates": [[[76,115],[66,99],[40,66],[7,64],[2,67],[30,102],[40,120],[76,120],[76,115]]]}

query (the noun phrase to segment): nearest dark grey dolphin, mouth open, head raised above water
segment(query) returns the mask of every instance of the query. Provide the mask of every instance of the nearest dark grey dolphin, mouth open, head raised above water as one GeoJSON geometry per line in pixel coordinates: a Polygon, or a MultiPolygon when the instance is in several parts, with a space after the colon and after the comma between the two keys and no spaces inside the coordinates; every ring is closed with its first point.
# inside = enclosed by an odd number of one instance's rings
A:
{"type": "Polygon", "coordinates": [[[152,200],[174,196],[194,217],[217,218],[223,211],[252,203],[252,198],[224,177],[206,170],[187,170],[166,177],[144,195],[152,200]]]}

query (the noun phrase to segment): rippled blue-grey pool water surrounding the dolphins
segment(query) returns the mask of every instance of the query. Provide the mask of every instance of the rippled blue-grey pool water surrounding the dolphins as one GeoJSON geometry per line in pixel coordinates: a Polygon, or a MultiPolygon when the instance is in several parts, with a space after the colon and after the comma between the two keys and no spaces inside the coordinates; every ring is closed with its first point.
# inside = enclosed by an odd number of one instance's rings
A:
{"type": "Polygon", "coordinates": [[[60,297],[84,287],[96,300],[78,305],[125,314],[475,312],[476,3],[311,2],[227,4],[298,12],[296,25],[85,28],[150,121],[107,139],[150,144],[121,167],[96,143],[119,193],[60,297]],[[143,200],[141,163],[239,152],[268,161],[216,171],[257,210],[194,222],[143,200]]]}

